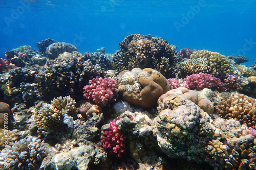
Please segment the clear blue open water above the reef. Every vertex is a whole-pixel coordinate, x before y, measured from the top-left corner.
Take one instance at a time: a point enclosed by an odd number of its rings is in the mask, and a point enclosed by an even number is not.
[[[181,48],[256,58],[256,1],[0,1],[0,57],[52,38],[78,52],[119,50],[130,34],[162,37]]]

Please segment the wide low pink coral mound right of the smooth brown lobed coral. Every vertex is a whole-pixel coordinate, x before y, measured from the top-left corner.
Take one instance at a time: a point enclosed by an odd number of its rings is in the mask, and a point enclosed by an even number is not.
[[[203,89],[203,88],[209,88],[209,89],[217,89],[220,91],[225,91],[226,88],[224,87],[224,83],[221,82],[220,79],[207,74],[200,72],[199,74],[193,74],[190,76],[187,76],[184,81],[184,87],[188,89]]]

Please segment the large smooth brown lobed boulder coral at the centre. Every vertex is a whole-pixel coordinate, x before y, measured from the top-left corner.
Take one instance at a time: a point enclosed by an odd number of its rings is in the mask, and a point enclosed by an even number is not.
[[[160,72],[152,68],[132,69],[118,75],[118,90],[124,100],[131,104],[150,108],[168,90],[168,81]]]

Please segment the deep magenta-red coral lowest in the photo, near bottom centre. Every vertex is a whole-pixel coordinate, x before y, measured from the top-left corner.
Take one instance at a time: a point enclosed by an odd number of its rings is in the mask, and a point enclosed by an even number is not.
[[[120,118],[117,117],[119,120]],[[116,119],[110,123],[110,127],[107,130],[103,130],[102,147],[110,152],[110,154],[121,157],[125,149],[125,139],[123,132],[118,129]]]

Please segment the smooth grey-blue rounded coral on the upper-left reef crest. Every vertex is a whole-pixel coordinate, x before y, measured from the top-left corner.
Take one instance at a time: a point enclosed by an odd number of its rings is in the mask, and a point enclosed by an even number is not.
[[[72,53],[73,51],[77,51],[77,48],[73,44],[69,44],[66,42],[55,42],[46,48],[45,54],[47,58],[55,59],[61,53]]]

